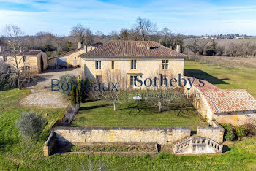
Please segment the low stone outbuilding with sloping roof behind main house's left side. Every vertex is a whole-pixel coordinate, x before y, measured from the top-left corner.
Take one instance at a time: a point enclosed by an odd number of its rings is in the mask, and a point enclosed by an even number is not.
[[[90,50],[93,50],[94,48],[98,47],[99,45],[102,45],[102,43],[96,43],[93,45],[86,45],[82,47],[80,42],[78,42],[78,49],[71,50],[67,53],[61,54],[60,56],[56,56],[54,58],[51,58],[48,60],[48,64],[50,67],[58,67],[58,66],[66,66],[66,67],[76,67],[80,66],[81,59],[80,55],[83,53],[86,53]]]

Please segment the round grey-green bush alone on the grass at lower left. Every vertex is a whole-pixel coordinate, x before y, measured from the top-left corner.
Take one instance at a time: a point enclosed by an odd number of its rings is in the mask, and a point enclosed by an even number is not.
[[[37,115],[34,111],[23,112],[20,119],[16,122],[16,126],[23,137],[35,138],[39,137],[45,122],[45,118],[42,118],[42,115]]]

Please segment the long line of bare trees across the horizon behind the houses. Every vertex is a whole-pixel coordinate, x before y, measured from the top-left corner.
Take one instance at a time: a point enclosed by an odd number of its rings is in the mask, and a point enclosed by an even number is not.
[[[225,39],[199,39],[197,36],[175,34],[170,31],[170,28],[159,30],[156,23],[153,23],[148,18],[140,17],[135,20],[132,28],[110,31],[109,34],[103,34],[102,31],[93,33],[90,28],[78,24],[71,28],[69,36],[66,37],[59,37],[50,32],[40,31],[34,36],[20,34],[20,39],[24,50],[42,50],[48,53],[49,57],[75,50],[78,42],[83,45],[91,45],[97,42],[105,43],[109,40],[152,40],[173,50],[176,50],[176,45],[181,45],[181,53],[186,54],[192,53],[206,56],[256,55],[256,42],[249,41],[250,39],[226,42]],[[8,48],[8,40],[10,41],[10,37],[0,37],[0,46]]]

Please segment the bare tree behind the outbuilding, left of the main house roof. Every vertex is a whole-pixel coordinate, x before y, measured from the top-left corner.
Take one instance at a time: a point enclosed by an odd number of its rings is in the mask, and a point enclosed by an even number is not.
[[[72,27],[70,34],[84,45],[89,45],[92,42],[91,29],[84,27],[82,24]]]

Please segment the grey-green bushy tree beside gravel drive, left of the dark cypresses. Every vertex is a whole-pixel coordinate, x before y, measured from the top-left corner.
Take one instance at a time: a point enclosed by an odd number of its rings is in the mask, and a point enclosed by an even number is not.
[[[67,74],[67,75],[61,75],[61,77],[59,77],[59,86],[62,85],[62,83],[68,83],[68,85],[70,86],[71,83],[77,83],[77,77],[75,77],[75,75],[70,75],[70,74]],[[67,91],[64,91],[64,90],[68,89]],[[72,87],[67,87],[67,84],[64,84],[63,87],[60,89],[61,90],[61,93],[67,97],[67,98],[70,98],[71,96],[71,89]]]

